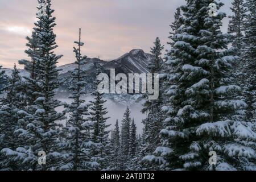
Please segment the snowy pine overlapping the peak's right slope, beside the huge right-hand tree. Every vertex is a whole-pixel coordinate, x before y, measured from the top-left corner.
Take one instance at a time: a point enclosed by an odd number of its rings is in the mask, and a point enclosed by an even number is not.
[[[154,47],[151,48],[151,53],[154,55],[154,59],[151,60],[148,69],[150,73],[162,74],[164,61],[160,57],[162,55],[163,46],[160,43],[159,38],[156,38]],[[144,155],[152,155],[156,150],[156,147],[160,144],[159,133],[163,129],[164,113],[162,107],[164,104],[164,79],[160,79],[159,83],[159,98],[158,100],[147,100],[143,104],[142,113],[147,113],[147,118],[143,120],[144,130],[143,135],[145,139],[145,147],[142,149]]]

